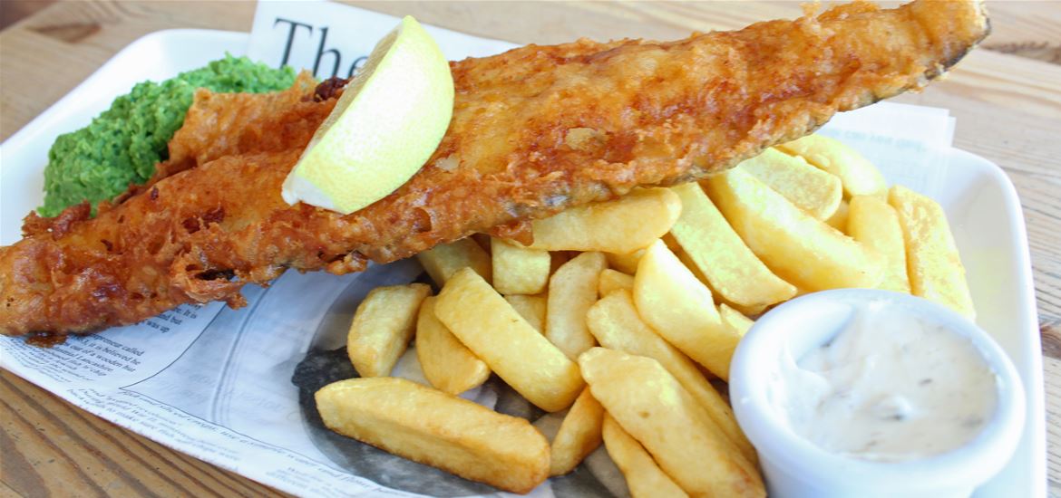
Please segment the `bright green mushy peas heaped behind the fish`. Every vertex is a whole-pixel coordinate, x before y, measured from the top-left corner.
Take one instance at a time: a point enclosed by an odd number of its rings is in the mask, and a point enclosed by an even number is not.
[[[143,183],[155,163],[169,158],[167,144],[185,122],[196,88],[215,92],[268,92],[291,87],[291,68],[273,69],[246,57],[214,60],[162,83],[143,82],[115,99],[88,126],[59,136],[48,152],[42,216],[68,206],[95,203]]]

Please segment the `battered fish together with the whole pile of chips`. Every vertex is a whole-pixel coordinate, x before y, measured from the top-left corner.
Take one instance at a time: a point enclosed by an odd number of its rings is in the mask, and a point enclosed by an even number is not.
[[[435,287],[364,298],[346,346],[360,377],[315,395],[328,428],[514,493],[604,443],[633,496],[764,496],[725,393],[755,316],[865,287],[975,317],[942,208],[812,134],[922,88],[988,30],[976,1],[855,2],[677,41],[450,63],[437,148],[349,214],[281,190],[318,128],[361,105],[343,101],[364,90],[356,77],[199,89],[140,184],[94,217],[91,197],[31,213],[0,248],[0,332],[62,338],[184,303],[238,307],[244,285],[288,269],[416,256]],[[389,376],[411,343],[427,386]],[[566,413],[553,441],[459,397],[491,374]]]

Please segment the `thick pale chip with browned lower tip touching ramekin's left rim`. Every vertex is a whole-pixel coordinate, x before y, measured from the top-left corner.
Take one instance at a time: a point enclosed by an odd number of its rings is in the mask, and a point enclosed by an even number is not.
[[[726,326],[711,290],[662,241],[648,247],[633,275],[638,315],[660,336],[724,380],[741,336]]]

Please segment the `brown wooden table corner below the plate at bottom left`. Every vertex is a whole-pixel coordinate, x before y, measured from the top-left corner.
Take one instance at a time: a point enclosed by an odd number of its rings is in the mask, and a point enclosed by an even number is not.
[[[0,371],[0,479],[23,496],[283,496]]]

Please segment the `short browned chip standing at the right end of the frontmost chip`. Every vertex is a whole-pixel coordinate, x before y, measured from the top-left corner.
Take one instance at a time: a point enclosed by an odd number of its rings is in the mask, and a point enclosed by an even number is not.
[[[601,446],[601,425],[604,407],[593,398],[589,388],[571,405],[560,430],[553,438],[550,476],[562,476],[574,470],[589,453]]]

